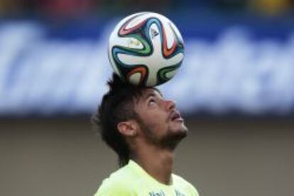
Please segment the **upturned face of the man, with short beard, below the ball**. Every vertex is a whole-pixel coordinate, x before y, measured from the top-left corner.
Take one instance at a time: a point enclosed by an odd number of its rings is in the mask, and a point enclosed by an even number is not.
[[[147,142],[174,149],[187,135],[187,127],[175,103],[165,100],[154,88],[146,88],[135,101],[138,123]]]

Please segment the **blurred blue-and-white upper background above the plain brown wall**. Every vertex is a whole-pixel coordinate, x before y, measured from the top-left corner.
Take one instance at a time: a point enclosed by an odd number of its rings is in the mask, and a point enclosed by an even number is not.
[[[160,89],[184,113],[293,113],[293,1],[1,0],[0,115],[93,113],[111,76],[109,33],[137,11],[183,34],[183,67]]]

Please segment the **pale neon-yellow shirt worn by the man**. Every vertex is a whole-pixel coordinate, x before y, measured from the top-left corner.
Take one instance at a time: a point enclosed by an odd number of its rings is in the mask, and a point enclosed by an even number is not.
[[[165,185],[151,177],[135,161],[103,180],[94,196],[199,196],[193,185],[172,174],[172,183]]]

